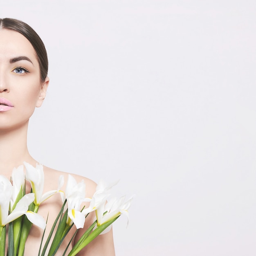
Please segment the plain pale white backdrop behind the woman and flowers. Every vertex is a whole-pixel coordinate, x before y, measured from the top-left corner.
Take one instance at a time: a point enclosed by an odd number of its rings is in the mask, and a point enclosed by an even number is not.
[[[250,0],[1,2],[49,55],[31,155],[136,194],[117,256],[256,254],[255,13]]]

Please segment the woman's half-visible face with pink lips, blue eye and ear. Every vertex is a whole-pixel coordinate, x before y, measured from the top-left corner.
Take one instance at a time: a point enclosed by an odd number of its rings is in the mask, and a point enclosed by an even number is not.
[[[26,124],[45,98],[36,52],[22,34],[0,29],[0,129]]]

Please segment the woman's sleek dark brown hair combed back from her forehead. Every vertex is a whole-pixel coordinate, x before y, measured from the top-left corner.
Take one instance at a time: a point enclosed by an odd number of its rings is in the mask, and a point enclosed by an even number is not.
[[[36,51],[40,67],[40,79],[44,82],[48,73],[48,58],[45,45],[36,31],[27,23],[11,18],[0,19],[0,29],[14,30],[29,40]]]

